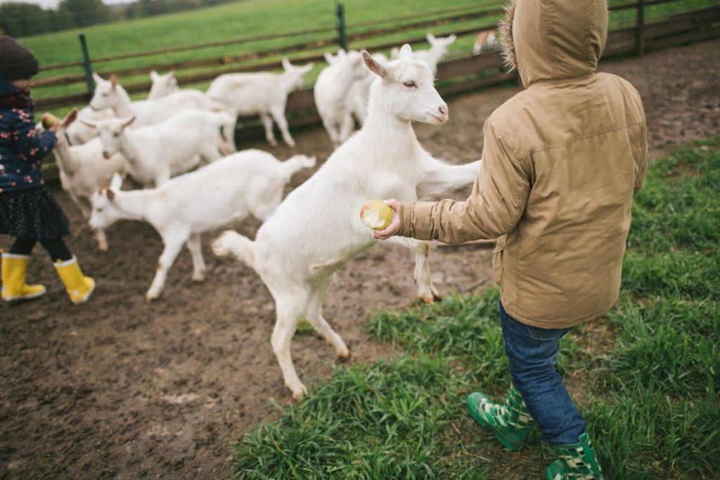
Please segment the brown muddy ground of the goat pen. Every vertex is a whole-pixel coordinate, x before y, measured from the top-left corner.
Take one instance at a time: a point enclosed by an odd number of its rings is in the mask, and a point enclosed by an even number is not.
[[[720,40],[603,63],[642,94],[652,155],[683,140],[720,132]],[[418,125],[433,155],[464,163],[480,157],[482,124],[516,86],[449,100],[450,120]],[[296,132],[294,152],[330,154],[324,130]],[[246,142],[284,160],[292,150]],[[317,168],[317,167],[316,167]],[[312,171],[295,176],[291,186]],[[0,305],[0,478],[228,478],[231,445],[277,402],[292,401],[270,347],[274,304],[258,276],[217,258],[204,235],[204,283],[190,279],[186,251],[166,290],[145,302],[161,240],[149,225],[119,222],[100,253],[78,209],[54,190],[71,219],[68,245],[97,289],[82,306],[70,304],[45,252],[32,254],[28,278],[48,294],[35,302]],[[237,228],[253,236],[259,223]],[[9,248],[9,237],[0,247]],[[433,281],[442,292],[485,289],[492,283],[490,251],[433,245]],[[415,295],[413,258],[377,245],[338,274],[325,317],[348,343],[352,362],[393,354],[366,339],[371,309],[407,307]],[[317,335],[297,335],[292,350],[303,381],[312,384],[339,363]]]

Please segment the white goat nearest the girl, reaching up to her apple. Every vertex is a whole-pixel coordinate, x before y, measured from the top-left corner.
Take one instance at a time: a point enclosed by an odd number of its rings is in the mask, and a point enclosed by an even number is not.
[[[114,172],[125,176],[125,157],[122,153],[114,153],[109,160],[102,156],[102,145],[99,138],[94,138],[82,145],[69,145],[64,133],[76,122],[77,109],[73,109],[60,123],[56,135],[57,141],[53,155],[60,167],[60,184],[68,192],[71,200],[78,206],[85,219],[89,219],[92,195],[97,191],[102,179]],[[107,250],[107,236],[104,230],[93,230],[98,248]]]

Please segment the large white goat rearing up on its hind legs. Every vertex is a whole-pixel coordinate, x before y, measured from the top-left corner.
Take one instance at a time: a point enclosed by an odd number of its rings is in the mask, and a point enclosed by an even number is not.
[[[448,109],[433,86],[427,63],[413,60],[410,45],[402,46],[399,60],[387,64],[367,52],[362,57],[378,76],[362,129],[287,196],[254,242],[228,230],[212,244],[217,255],[235,255],[254,268],[275,299],[271,343],[296,399],[307,393],[290,356],[300,317],[305,316],[338,356],[349,356],[343,340],[323,318],[322,307],[336,271],[377,242],[359,218],[365,201],[439,196],[471,184],[480,171],[480,160],[451,166],[420,146],[411,122],[442,124]],[[405,237],[387,241],[415,252],[418,296],[432,303],[438,291],[428,268],[429,243]]]

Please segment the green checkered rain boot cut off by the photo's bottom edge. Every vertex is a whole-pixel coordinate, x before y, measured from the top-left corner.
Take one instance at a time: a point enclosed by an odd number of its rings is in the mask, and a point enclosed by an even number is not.
[[[546,480],[603,480],[590,437],[583,433],[578,440],[569,445],[550,444],[560,458],[547,467]]]

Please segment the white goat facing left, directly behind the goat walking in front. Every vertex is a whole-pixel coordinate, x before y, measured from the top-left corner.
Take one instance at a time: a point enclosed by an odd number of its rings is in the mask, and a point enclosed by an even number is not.
[[[110,158],[120,151],[127,159],[127,173],[143,186],[159,186],[171,176],[220,158],[220,129],[232,121],[227,112],[187,110],[156,125],[127,128],[135,117],[86,122],[96,128],[102,155]]]

